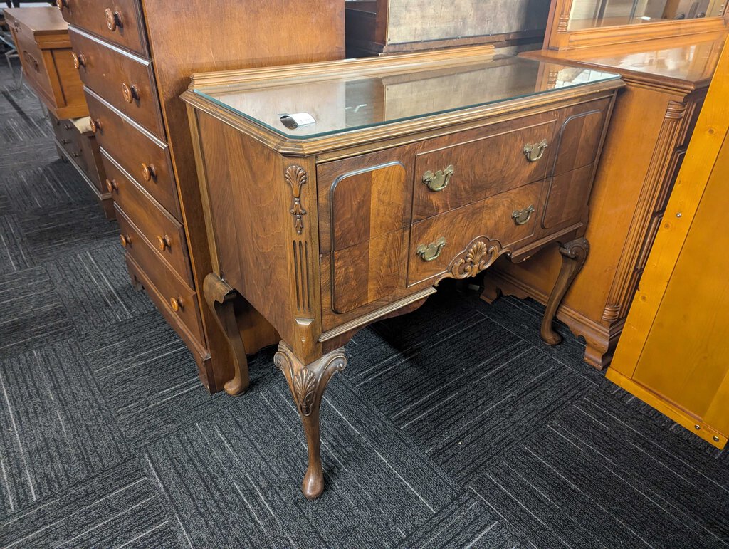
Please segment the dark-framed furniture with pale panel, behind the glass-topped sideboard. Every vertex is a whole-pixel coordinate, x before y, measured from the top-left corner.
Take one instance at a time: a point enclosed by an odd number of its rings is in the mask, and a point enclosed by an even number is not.
[[[347,55],[541,42],[549,5],[532,0],[347,0]]]

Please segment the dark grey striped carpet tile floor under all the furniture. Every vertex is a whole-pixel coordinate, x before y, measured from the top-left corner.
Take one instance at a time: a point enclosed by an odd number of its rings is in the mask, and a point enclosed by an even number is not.
[[[728,452],[455,284],[348,344],[306,502],[273,350],[206,394],[116,235],[0,68],[0,547],[729,546]]]

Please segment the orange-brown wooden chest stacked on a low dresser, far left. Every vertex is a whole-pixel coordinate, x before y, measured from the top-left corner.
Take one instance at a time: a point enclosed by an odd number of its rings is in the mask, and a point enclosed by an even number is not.
[[[53,7],[10,8],[5,20],[28,83],[58,119],[88,114],[71,59],[68,25]]]

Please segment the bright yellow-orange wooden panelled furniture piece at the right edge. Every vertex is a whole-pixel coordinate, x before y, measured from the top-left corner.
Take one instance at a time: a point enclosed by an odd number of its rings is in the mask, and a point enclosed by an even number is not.
[[[729,437],[728,97],[729,45],[607,370],[609,380],[717,448]],[[719,253],[707,260],[711,249]]]

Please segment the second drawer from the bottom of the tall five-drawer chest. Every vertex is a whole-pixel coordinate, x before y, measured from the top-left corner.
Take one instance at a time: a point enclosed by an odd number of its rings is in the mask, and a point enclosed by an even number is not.
[[[157,247],[160,257],[169,263],[180,278],[193,286],[182,224],[158,206],[139,185],[130,181],[108,153],[104,152],[102,155],[106,171],[106,192],[112,193],[114,202],[124,211],[125,216],[133,221],[147,241]]]

